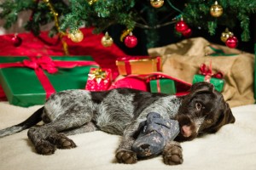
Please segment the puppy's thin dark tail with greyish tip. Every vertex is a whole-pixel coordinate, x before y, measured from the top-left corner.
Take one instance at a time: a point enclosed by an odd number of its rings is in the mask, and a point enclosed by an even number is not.
[[[0,138],[3,138],[4,136],[9,136],[11,134],[19,133],[26,128],[36,125],[38,122],[42,121],[43,111],[44,107],[41,107],[40,109],[38,109],[38,111],[35,111],[32,116],[28,117],[26,121],[20,122],[20,124],[17,124],[15,126],[7,127],[3,130],[0,130]]]

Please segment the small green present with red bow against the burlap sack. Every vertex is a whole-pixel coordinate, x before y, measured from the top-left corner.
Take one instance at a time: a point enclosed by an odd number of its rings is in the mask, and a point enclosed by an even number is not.
[[[211,82],[216,90],[218,92],[221,92],[224,88],[224,74],[221,71],[218,71],[217,73],[212,73],[212,63],[210,63],[210,66],[207,67],[207,65],[202,64],[200,68],[201,74],[196,74],[193,77],[193,84],[195,82]]]

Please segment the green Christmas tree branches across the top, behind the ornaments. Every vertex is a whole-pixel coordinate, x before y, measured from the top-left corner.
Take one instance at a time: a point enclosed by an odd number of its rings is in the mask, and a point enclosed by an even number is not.
[[[256,1],[251,0],[218,0],[218,4],[224,8],[224,13],[218,18],[212,17],[209,13],[215,0],[189,0],[187,3],[165,0],[161,8],[153,8],[149,0],[96,0],[91,4],[88,0],[49,1],[58,13],[61,31],[75,31],[80,26],[93,26],[94,33],[100,33],[113,25],[121,25],[130,30],[136,27],[145,31],[157,30],[161,26],[174,24],[172,15],[183,14],[183,20],[189,26],[206,29],[210,35],[215,34],[218,26],[226,26],[230,29],[241,26],[241,40],[248,41],[249,18],[251,14],[256,13]],[[27,21],[25,28],[36,35],[40,33],[40,26],[55,22],[49,8],[42,0],[5,0],[0,4],[0,10],[0,18],[5,20],[6,29],[17,21],[20,12],[26,10],[32,11],[33,15],[32,19]],[[154,14],[148,14],[148,11]],[[57,32],[55,26],[50,32]],[[151,38],[157,34],[156,31],[147,32],[148,37]]]

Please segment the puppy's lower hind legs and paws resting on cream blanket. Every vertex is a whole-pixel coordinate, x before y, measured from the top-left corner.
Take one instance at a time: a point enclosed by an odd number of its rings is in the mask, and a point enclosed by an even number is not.
[[[68,139],[64,133],[60,133],[67,129],[81,127],[87,122],[90,122],[92,114],[88,110],[71,111],[63,114],[55,121],[49,122],[42,127],[32,127],[28,130],[28,137],[34,144],[35,149],[39,154],[51,155],[55,149],[70,149],[76,147],[72,139]]]

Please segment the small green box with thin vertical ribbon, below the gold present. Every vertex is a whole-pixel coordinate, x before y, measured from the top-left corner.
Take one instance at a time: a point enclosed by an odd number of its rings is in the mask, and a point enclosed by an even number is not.
[[[172,79],[156,79],[150,80],[150,91],[152,93],[162,93],[162,94],[176,94],[177,89],[175,82]]]

